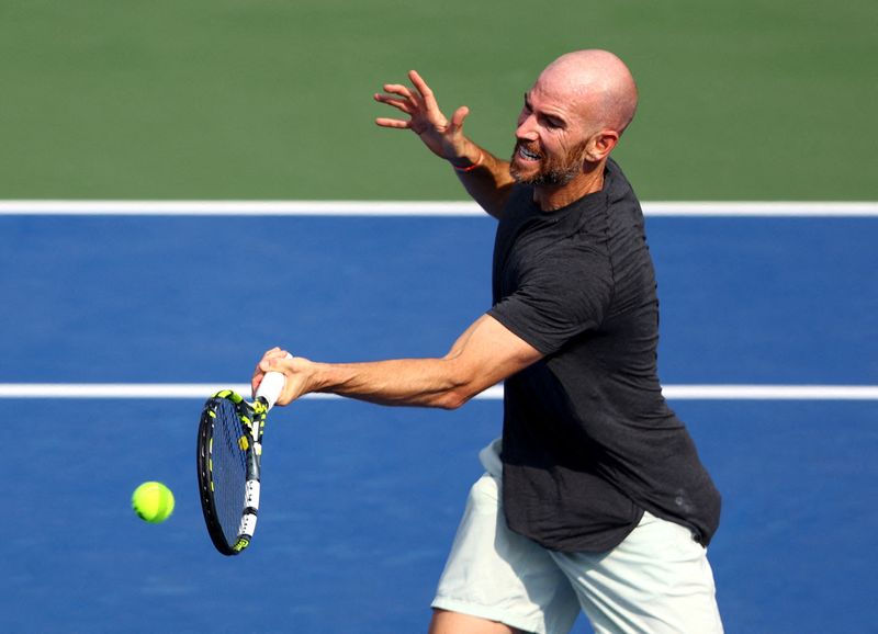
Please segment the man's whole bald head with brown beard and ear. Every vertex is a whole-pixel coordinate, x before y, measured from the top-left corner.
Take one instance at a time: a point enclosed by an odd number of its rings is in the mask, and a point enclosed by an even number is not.
[[[525,94],[513,177],[563,186],[604,163],[634,117],[638,90],[621,59],[577,50],[550,64]]]

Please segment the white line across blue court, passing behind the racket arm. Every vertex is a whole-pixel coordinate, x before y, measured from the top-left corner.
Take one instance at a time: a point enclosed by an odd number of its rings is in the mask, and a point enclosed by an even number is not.
[[[249,395],[247,384],[218,383],[0,383],[0,398],[198,398],[219,389]],[[878,400],[878,385],[667,385],[671,400]],[[312,394],[308,399],[339,398]],[[503,387],[492,387],[477,399],[498,400]]]

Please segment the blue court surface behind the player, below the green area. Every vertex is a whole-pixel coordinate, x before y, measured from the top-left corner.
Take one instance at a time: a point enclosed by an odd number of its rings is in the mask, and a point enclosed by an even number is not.
[[[274,344],[441,355],[489,306],[493,231],[477,217],[0,216],[0,384],[240,384]],[[649,217],[648,233],[669,390],[878,385],[878,218]],[[2,632],[426,631],[477,450],[500,427],[494,398],[278,410],[256,540],[225,558],[199,508],[198,398],[0,405]],[[878,631],[876,400],[672,406],[723,494],[710,559],[727,632]],[[165,524],[130,509],[147,479],[177,495]]]

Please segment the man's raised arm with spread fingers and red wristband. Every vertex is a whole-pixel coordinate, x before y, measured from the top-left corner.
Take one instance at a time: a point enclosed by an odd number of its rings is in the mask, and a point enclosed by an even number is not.
[[[463,134],[463,121],[470,109],[461,106],[447,118],[436,102],[432,90],[414,70],[408,78],[414,90],[399,83],[384,84],[384,93],[375,101],[408,115],[407,120],[379,117],[382,127],[410,129],[436,156],[453,167],[466,192],[492,216],[499,218],[515,181],[509,163],[479,147]]]

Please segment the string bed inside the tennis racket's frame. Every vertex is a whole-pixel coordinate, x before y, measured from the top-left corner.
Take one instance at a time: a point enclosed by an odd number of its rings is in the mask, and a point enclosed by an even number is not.
[[[246,506],[247,453],[245,430],[237,408],[223,400],[216,409],[212,451],[213,496],[217,520],[226,542],[235,544]]]

